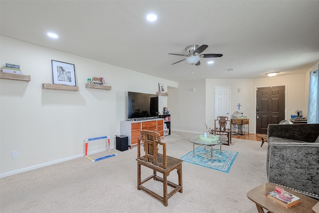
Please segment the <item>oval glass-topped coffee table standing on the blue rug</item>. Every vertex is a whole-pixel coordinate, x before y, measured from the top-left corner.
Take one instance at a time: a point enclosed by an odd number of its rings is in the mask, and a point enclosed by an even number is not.
[[[210,147],[210,159],[213,162],[213,146],[220,145],[220,153],[221,153],[221,145],[227,141],[227,138],[222,135],[211,135],[208,134],[207,138],[204,135],[200,135],[199,138],[196,139],[188,139],[189,142],[193,143],[193,157],[195,157],[195,145]],[[209,152],[209,150],[207,150]]]

